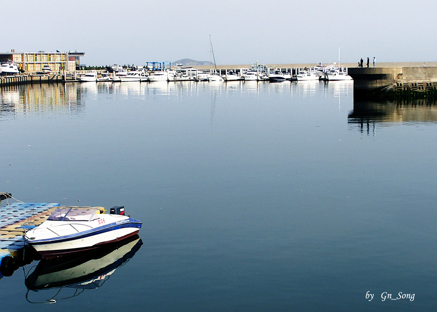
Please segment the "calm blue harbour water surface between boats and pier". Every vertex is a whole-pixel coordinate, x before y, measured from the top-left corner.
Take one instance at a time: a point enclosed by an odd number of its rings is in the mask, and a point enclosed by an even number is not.
[[[0,91],[0,133],[0,191],[143,221],[104,283],[28,291],[35,261],[0,280],[3,307],[435,310],[436,103],[354,101],[351,82],[34,85]]]

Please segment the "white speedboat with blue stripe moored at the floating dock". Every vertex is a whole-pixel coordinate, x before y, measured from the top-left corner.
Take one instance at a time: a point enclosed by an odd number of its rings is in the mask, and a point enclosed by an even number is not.
[[[57,207],[46,221],[27,231],[24,240],[51,259],[118,242],[141,228],[141,221],[124,215],[124,207],[104,212],[103,207]]]

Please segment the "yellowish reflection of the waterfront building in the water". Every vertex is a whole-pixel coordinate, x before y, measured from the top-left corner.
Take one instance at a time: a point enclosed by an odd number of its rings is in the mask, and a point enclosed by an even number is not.
[[[77,83],[4,87],[0,89],[0,121],[48,111],[52,115],[78,115],[83,104]]]

